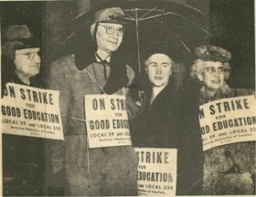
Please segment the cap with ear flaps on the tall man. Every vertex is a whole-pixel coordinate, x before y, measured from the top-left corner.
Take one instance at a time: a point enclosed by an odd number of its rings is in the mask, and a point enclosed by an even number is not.
[[[118,7],[101,9],[96,12],[93,24],[90,26],[90,35],[94,37],[97,23],[116,23],[126,25],[125,13]]]

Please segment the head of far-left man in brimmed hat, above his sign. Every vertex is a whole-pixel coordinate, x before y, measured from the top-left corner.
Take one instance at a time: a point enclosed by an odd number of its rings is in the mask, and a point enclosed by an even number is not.
[[[4,30],[2,54],[3,90],[7,82],[42,86],[36,77],[41,67],[39,43],[26,25],[9,26]]]

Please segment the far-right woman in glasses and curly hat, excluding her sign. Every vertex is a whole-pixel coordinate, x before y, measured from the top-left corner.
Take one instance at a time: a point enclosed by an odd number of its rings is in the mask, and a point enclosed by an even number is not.
[[[195,55],[198,59],[191,66],[190,76],[201,83],[200,105],[254,94],[252,90],[232,89],[226,84],[224,69],[231,59],[228,50],[207,45],[196,48]],[[205,194],[253,194],[253,176],[255,142],[237,142],[204,152]]]

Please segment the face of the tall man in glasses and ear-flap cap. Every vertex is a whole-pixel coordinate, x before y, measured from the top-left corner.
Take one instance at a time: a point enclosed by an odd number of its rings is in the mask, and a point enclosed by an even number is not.
[[[99,23],[96,32],[97,49],[111,54],[119,48],[123,40],[123,25]]]

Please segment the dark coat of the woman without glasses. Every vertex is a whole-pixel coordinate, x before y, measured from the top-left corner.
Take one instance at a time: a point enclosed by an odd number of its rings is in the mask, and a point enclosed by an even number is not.
[[[133,126],[133,146],[177,148],[177,194],[201,194],[202,147],[196,106],[172,79],[151,105],[150,95]]]

